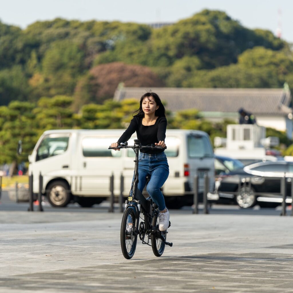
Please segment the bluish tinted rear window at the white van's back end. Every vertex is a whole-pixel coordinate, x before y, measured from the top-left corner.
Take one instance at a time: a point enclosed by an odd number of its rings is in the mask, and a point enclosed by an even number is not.
[[[213,157],[213,150],[207,137],[202,135],[189,135],[187,137],[188,156],[190,158]]]

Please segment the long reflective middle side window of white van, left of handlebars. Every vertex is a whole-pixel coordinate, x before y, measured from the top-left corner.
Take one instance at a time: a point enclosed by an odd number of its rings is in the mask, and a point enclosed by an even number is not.
[[[84,137],[81,142],[84,157],[121,157],[122,151],[108,149],[117,137]]]

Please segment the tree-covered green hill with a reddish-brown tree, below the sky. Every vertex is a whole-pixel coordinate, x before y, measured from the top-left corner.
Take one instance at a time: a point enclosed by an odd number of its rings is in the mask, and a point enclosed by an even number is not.
[[[289,44],[250,30],[222,11],[203,10],[173,25],[35,22],[0,23],[0,105],[12,100],[73,96],[85,103],[125,86],[282,87],[293,85]]]

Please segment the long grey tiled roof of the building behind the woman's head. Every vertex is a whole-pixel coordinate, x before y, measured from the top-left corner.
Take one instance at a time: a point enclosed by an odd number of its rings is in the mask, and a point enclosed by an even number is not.
[[[238,112],[244,108],[256,115],[292,113],[291,93],[283,88],[152,88],[170,111],[196,108],[202,112]],[[147,88],[120,88],[114,100],[139,99]]]

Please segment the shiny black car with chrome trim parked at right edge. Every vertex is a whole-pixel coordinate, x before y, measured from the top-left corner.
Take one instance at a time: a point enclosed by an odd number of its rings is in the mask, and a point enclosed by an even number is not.
[[[235,201],[242,208],[253,207],[256,203],[260,206],[276,207],[282,203],[282,177],[286,177],[286,202],[290,203],[293,162],[286,161],[255,163],[220,175],[216,181],[216,193],[220,199]],[[244,183],[243,178],[250,180],[251,186]]]

